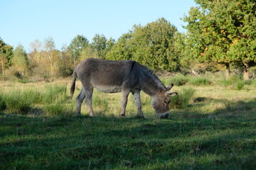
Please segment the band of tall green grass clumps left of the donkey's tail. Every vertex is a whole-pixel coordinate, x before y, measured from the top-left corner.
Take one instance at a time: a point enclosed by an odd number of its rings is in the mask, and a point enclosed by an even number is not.
[[[28,114],[34,105],[43,105],[47,115],[58,115],[70,109],[65,107],[68,101],[66,84],[46,86],[45,90],[12,90],[1,92],[0,111],[9,110],[13,113]]]

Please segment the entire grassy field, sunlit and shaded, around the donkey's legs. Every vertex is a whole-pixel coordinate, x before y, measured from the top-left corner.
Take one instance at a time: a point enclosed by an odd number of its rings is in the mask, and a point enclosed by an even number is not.
[[[256,82],[182,75],[164,79],[178,91],[169,119],[157,118],[142,94],[146,119],[129,96],[95,90],[75,116],[71,79],[0,82],[0,169],[255,169]],[[80,91],[80,83],[75,96]]]

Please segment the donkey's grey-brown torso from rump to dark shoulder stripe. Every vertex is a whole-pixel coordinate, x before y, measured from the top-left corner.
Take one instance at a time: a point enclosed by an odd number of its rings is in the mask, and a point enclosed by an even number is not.
[[[83,86],[93,86],[107,93],[120,92],[124,81],[129,79],[134,64],[132,60],[111,61],[89,58],[75,67],[74,76],[80,79]]]

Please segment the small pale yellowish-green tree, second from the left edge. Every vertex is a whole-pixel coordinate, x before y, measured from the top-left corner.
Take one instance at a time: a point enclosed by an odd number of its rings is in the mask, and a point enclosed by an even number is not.
[[[23,75],[28,72],[28,55],[23,45],[18,45],[14,50],[14,57],[11,60],[11,67],[14,68],[16,74]]]

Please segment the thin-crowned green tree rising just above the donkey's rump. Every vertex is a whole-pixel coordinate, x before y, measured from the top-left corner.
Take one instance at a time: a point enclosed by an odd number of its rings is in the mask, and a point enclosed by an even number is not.
[[[68,45],[67,50],[73,58],[73,63],[79,59],[82,49],[88,47],[89,41],[83,35],[77,35]]]

